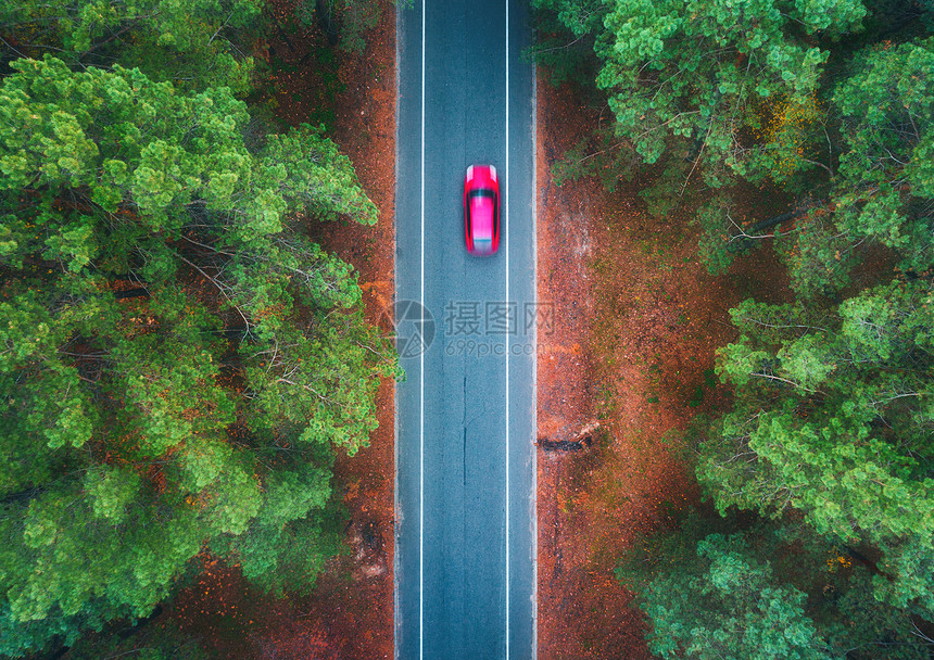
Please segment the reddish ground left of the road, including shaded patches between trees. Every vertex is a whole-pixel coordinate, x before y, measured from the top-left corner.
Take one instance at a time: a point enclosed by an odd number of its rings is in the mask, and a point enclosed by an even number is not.
[[[294,17],[294,0],[272,0],[278,22],[268,45],[268,90],[276,115],[288,124],[329,124],[329,136],[354,163],[379,210],[374,227],[308,223],[313,239],[359,274],[366,316],[387,318],[393,294],[395,189],[395,13],[380,0],[382,17],[367,33],[364,55],[333,54],[321,30]],[[276,35],[278,34],[278,37]],[[335,77],[336,73],[336,77]],[[387,332],[391,328],[383,328]],[[355,457],[338,457],[335,485],[350,520],[350,551],[331,560],[305,598],[252,589],[236,567],[206,560],[198,583],[166,615],[198,635],[217,657],[232,659],[353,658],[393,655],[394,383],[377,394],[379,428]]]

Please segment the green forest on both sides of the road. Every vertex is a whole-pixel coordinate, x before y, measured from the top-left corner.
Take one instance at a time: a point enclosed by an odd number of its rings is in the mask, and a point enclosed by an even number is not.
[[[374,4],[330,3],[336,48]],[[731,310],[730,403],[681,432],[703,506],[618,557],[648,649],[930,658],[934,3],[531,4],[530,56],[608,117],[555,179],[651,180],[711,272],[774,251],[790,282]],[[205,557],[306,594],[343,551],[335,460],[401,373],[308,236],[377,210],[264,94],[281,29],[264,0],[0,3],[0,656],[206,658],[146,627]]]

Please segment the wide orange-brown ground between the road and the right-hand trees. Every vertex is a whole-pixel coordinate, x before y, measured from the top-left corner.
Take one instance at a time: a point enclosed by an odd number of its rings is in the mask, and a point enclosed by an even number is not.
[[[698,502],[677,432],[725,401],[712,367],[735,338],[728,309],[786,281],[770,251],[709,276],[699,228],[647,214],[646,181],[556,186],[552,164],[598,111],[541,76],[538,89],[538,293],[556,307],[538,364],[539,658],[648,658],[646,622],[614,569],[639,535]],[[544,448],[594,423],[590,446]]]

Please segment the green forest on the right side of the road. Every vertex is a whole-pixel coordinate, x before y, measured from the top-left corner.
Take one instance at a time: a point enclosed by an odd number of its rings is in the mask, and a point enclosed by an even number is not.
[[[649,180],[710,272],[768,250],[790,282],[730,310],[729,404],[681,432],[703,506],[617,558],[649,651],[930,658],[934,3],[532,4],[530,55],[603,118],[555,179]]]

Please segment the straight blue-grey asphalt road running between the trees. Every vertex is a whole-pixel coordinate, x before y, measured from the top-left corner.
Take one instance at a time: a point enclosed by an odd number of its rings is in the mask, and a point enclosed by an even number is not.
[[[508,4],[508,7],[507,7]],[[535,653],[534,88],[525,2],[399,12],[395,648]],[[464,174],[501,180],[498,253],[468,255]],[[419,312],[424,305],[425,314]],[[424,350],[422,350],[424,348]]]

